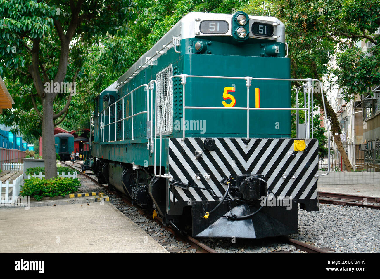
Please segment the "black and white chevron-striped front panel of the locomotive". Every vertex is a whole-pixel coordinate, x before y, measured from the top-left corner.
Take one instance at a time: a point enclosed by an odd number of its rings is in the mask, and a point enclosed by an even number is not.
[[[318,171],[316,139],[309,140],[306,151],[294,151],[294,139],[251,139],[245,147],[244,139],[220,138],[215,139],[213,151],[204,150],[204,139],[186,138],[184,149],[180,140],[170,139],[169,142],[169,175],[174,180],[212,189],[222,196],[226,186],[219,181],[223,177],[262,174],[268,182],[268,189],[276,196],[317,198],[317,178],[314,177]],[[203,158],[195,159],[195,151],[203,151]],[[290,153],[295,156],[290,156]],[[206,178],[205,173],[210,178]],[[284,173],[286,178],[283,178]],[[170,194],[172,197],[173,193]],[[183,201],[219,200],[207,191],[193,188],[175,187],[174,197]]]

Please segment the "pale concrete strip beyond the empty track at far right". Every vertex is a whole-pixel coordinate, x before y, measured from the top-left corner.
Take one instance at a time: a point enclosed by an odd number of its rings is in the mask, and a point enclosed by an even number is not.
[[[318,191],[367,197],[380,197],[380,185],[318,184]]]

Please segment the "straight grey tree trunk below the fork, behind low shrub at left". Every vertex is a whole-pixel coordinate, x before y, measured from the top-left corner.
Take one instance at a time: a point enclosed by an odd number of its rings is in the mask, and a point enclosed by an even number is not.
[[[43,101],[43,154],[45,159],[45,178],[57,177],[57,156],[55,155],[54,142],[54,111],[53,101],[46,96]]]

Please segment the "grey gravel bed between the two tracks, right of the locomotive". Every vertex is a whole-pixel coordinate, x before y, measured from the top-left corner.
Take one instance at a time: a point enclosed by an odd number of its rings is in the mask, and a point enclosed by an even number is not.
[[[298,210],[299,241],[335,252],[380,252],[380,210],[319,204],[319,211]]]

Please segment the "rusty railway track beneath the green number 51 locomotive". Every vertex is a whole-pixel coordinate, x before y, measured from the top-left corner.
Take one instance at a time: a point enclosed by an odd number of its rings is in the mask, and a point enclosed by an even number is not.
[[[168,226],[165,226],[162,224],[162,219],[159,218],[158,216],[156,216],[155,218],[152,218],[151,216],[148,216],[147,213],[142,209],[140,208],[139,206],[137,206],[136,204],[135,205],[132,205],[132,202],[131,202],[131,199],[129,197],[127,197],[126,195],[123,195],[123,194],[120,194],[119,192],[116,192],[116,191],[112,191],[108,188],[108,186],[106,184],[102,184],[102,183],[99,183],[98,180],[90,175],[88,175],[87,173],[82,173],[81,172],[81,166],[78,164],[78,163],[75,163],[74,165],[67,163],[67,162],[63,162],[63,161],[60,161],[61,164],[63,165],[66,165],[68,167],[71,167],[77,171],[79,171],[81,173],[81,175],[87,177],[88,179],[92,180],[95,184],[97,184],[98,186],[101,186],[103,188],[106,188],[107,191],[111,194],[114,194],[116,195],[117,197],[119,197],[123,203],[117,203],[117,204],[114,204],[114,206],[116,208],[119,209],[119,211],[127,211],[128,209],[126,209],[127,206],[133,206],[137,209],[138,213],[140,216],[144,216],[146,217],[147,219],[149,219],[150,221],[154,221],[156,222],[158,225],[160,225],[162,228],[164,228],[165,230],[171,232],[173,235],[174,235],[174,238],[178,241],[182,241],[184,243],[190,243],[192,249],[196,249],[196,252],[197,253],[217,253],[217,251],[215,251],[214,249],[208,247],[207,245],[201,243],[200,241],[196,240],[195,238],[193,238],[192,236],[189,236],[189,235],[186,235],[182,232],[180,232],[179,230],[177,230],[176,228],[171,228],[171,227],[168,227]],[[78,166],[76,166],[78,165]],[[131,219],[131,217],[133,218],[133,216],[136,216],[136,214],[134,213],[130,213],[130,215],[128,214],[125,214],[128,218]],[[133,221],[133,220],[132,220]],[[136,222],[137,224],[139,222]],[[147,231],[148,233],[152,233],[150,232],[149,230]],[[165,240],[165,236],[152,236],[152,238],[154,238],[156,241],[157,240]],[[307,244],[307,243],[304,243],[302,241],[298,241],[298,240],[294,240],[288,236],[283,236],[283,237],[280,237],[278,238],[279,241],[281,242],[284,242],[284,243],[288,243],[290,245],[293,245],[295,246],[297,249],[300,249],[302,251],[306,251],[308,253],[328,253],[328,251],[324,250],[324,249],[321,249],[321,248],[318,248],[318,247],[315,247],[313,245],[310,245],[310,244]],[[157,241],[158,243],[160,243],[161,245],[165,245],[165,244],[168,244],[168,242],[159,242]],[[189,249],[189,248],[187,248]],[[184,249],[184,248],[181,248],[181,249],[167,249],[169,252],[171,253],[174,253],[174,252],[183,252],[184,250],[187,250],[187,249]],[[331,249],[330,249],[331,250]],[[332,250],[333,251],[333,250]]]

